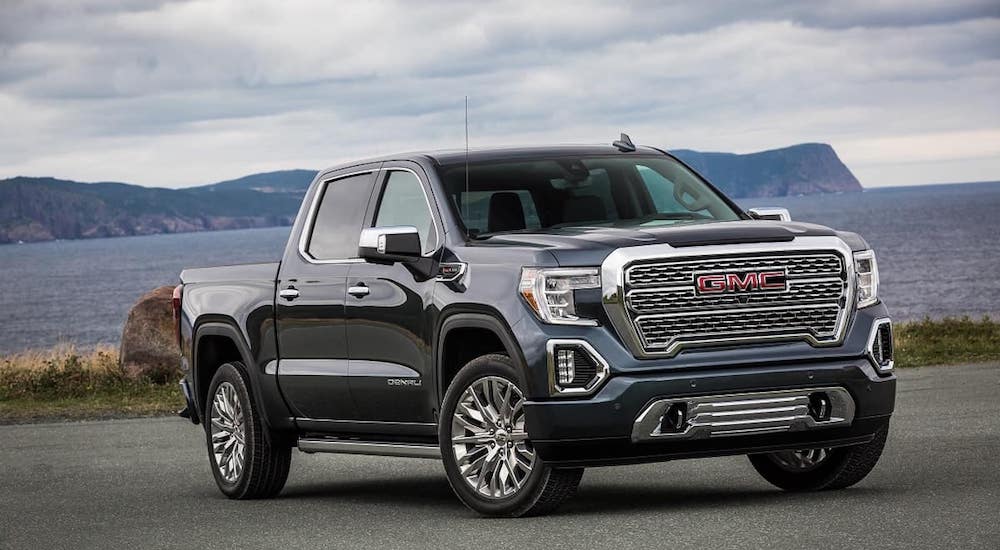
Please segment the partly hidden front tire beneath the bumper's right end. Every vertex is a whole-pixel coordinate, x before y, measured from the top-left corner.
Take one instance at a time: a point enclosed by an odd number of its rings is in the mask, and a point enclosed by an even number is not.
[[[748,458],[757,473],[785,491],[844,489],[864,479],[875,468],[888,433],[889,428],[885,427],[868,443],[851,447],[765,453]]]

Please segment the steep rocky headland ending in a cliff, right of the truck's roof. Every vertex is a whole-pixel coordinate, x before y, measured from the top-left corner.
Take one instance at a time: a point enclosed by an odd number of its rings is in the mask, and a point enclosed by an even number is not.
[[[731,197],[783,197],[861,191],[833,147],[803,143],[748,155],[671,151]]]

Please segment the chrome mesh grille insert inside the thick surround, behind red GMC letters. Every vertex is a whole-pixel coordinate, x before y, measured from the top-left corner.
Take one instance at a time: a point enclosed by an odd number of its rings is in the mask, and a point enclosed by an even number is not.
[[[686,344],[800,338],[837,340],[850,288],[833,250],[674,257],[637,261],[622,274],[625,317],[646,353]],[[701,275],[779,271],[785,290],[701,294]]]

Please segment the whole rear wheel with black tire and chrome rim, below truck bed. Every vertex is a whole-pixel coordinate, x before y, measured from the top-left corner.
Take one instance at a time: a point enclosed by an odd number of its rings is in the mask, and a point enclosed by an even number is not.
[[[291,445],[283,444],[277,434],[265,435],[267,428],[250,397],[242,363],[219,367],[209,384],[205,413],[208,460],[219,490],[238,500],[270,498],[281,492],[292,461]],[[218,440],[218,448],[213,438]],[[230,456],[232,460],[223,460]]]

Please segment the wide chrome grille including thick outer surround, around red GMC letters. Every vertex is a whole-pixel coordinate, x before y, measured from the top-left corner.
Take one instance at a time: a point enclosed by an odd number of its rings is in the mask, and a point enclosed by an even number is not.
[[[699,275],[784,270],[785,291],[701,294]],[[853,253],[837,237],[620,248],[601,266],[604,309],[638,358],[692,347],[805,341],[839,345],[854,312]]]

